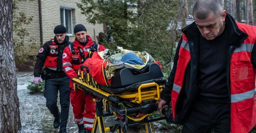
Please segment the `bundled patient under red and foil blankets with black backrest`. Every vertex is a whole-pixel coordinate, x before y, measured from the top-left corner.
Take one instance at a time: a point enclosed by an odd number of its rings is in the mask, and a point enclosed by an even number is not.
[[[91,77],[100,84],[101,89],[117,94],[137,89],[142,83],[163,85],[166,82],[162,66],[148,53],[123,52],[125,50],[121,48],[121,53],[109,56],[106,55],[107,51],[94,52],[92,58],[82,65],[89,69]]]

